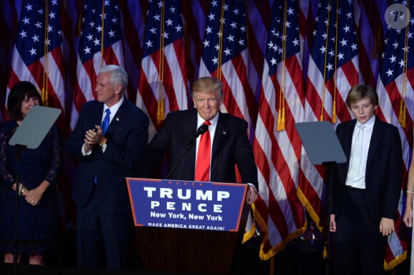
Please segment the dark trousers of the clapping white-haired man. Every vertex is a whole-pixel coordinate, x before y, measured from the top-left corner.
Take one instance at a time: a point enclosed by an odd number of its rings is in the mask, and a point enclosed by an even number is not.
[[[78,207],[78,266],[88,269],[131,269],[131,213],[105,214],[97,209],[93,199],[88,206]]]

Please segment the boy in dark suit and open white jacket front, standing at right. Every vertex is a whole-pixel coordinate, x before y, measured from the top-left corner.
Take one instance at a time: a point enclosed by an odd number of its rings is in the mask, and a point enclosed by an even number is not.
[[[335,274],[384,274],[387,237],[398,217],[400,135],[375,116],[378,95],[369,85],[351,88],[346,103],[355,119],[336,128],[348,162],[333,177]]]

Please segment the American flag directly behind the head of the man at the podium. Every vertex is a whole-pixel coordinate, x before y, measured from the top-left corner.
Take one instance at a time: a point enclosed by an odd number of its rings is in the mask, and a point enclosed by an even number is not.
[[[211,1],[198,75],[221,80],[224,92],[222,110],[245,119],[253,137],[258,111],[258,74],[251,66],[247,47],[244,5],[241,0]]]

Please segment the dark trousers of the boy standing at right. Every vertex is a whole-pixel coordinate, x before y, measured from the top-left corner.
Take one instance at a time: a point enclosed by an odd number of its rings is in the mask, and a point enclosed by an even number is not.
[[[346,190],[345,205],[336,219],[334,274],[381,275],[387,239],[373,223],[366,206],[365,191]],[[339,212],[339,211],[338,211]]]

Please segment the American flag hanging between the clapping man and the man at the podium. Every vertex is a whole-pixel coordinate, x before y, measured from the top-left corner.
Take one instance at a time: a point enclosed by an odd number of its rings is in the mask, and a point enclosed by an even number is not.
[[[136,105],[151,118],[150,138],[166,114],[188,108],[184,28],[179,1],[149,1]]]

